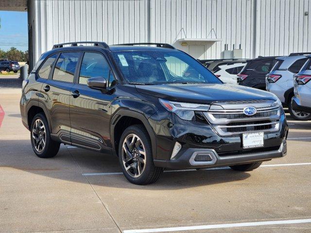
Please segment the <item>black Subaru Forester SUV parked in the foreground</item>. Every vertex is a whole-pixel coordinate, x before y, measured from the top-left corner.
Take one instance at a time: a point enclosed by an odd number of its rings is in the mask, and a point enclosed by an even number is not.
[[[286,154],[275,95],[224,84],[171,45],[134,45],[74,42],[42,54],[20,100],[38,157],[61,143],[109,152],[130,182],[148,184],[164,168],[250,171]]]

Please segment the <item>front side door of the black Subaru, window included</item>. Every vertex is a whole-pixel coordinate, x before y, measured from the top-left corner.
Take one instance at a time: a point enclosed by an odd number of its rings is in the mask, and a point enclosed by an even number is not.
[[[71,88],[70,121],[72,145],[93,150],[111,148],[110,116],[113,90],[104,93],[86,85],[87,79],[103,77],[108,87],[114,75],[102,53],[85,52],[75,84]]]

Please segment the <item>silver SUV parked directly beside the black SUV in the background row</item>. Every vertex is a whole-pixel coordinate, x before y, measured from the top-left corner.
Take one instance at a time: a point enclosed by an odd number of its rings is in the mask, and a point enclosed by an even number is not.
[[[311,114],[293,110],[291,100],[294,97],[294,75],[307,61],[306,54],[291,53],[289,56],[276,58],[277,62],[266,76],[266,89],[274,93],[296,120],[309,120]]]

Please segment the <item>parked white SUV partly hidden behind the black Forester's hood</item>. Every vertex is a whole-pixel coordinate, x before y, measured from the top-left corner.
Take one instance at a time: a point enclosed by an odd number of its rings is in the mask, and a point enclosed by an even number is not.
[[[237,74],[241,72],[245,65],[246,62],[228,63],[226,65],[219,66],[220,70],[214,72],[214,74],[224,83],[238,84]]]

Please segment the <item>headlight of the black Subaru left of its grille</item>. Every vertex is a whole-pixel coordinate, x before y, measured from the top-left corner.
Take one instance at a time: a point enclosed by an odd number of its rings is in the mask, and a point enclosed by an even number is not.
[[[163,99],[159,99],[159,102],[166,110],[175,113],[183,120],[195,120],[194,111],[207,111],[210,107],[209,104],[174,102]]]

